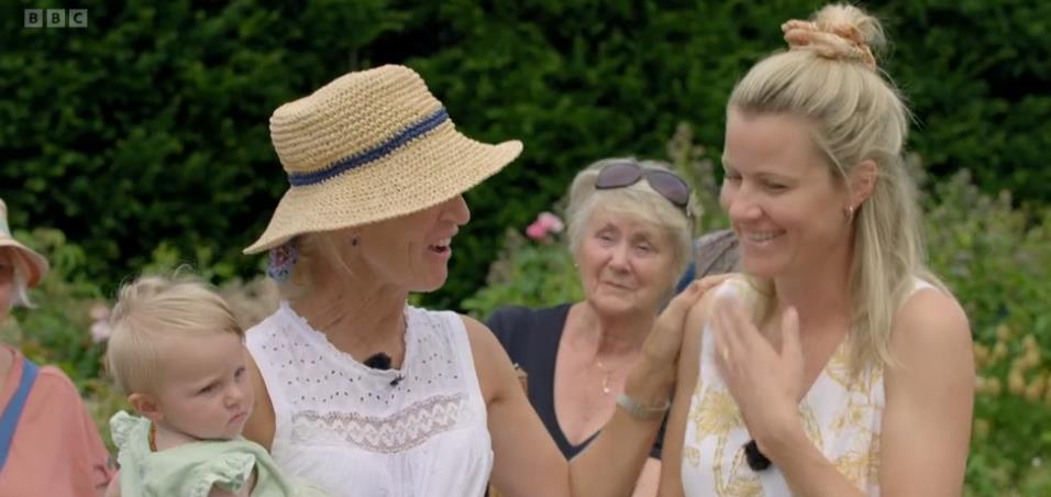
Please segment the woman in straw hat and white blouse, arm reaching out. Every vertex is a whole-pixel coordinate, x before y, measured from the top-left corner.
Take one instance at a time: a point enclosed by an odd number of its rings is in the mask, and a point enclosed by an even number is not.
[[[407,305],[444,284],[462,194],[520,142],[460,134],[411,69],[351,73],[270,118],[290,183],[246,253],[269,251],[278,310],[247,332],[245,435],[333,495],[628,495],[668,406],[697,285],[656,321],[621,409],[567,464],[482,323]]]

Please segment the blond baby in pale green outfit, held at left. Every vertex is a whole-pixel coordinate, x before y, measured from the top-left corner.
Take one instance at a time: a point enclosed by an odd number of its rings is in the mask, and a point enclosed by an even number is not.
[[[188,278],[124,286],[106,366],[141,417],[110,419],[121,471],[108,496],[320,496],[280,476],[241,438],[252,413],[244,331],[226,302]]]

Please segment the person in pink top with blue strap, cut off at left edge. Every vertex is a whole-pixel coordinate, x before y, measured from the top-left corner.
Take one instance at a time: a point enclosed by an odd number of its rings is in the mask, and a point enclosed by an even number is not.
[[[0,324],[47,273],[47,259],[11,236],[0,200]],[[0,494],[102,495],[109,453],[66,375],[0,343]]]

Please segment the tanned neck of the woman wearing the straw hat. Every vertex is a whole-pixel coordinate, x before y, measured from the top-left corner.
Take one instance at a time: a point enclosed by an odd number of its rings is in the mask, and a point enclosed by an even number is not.
[[[289,302],[292,310],[355,361],[383,352],[392,367],[400,367],[408,291],[334,273],[318,275],[307,295]]]

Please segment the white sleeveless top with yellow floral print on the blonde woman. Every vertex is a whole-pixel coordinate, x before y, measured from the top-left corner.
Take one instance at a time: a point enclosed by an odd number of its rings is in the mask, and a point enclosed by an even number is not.
[[[917,280],[916,290],[921,288],[933,286]],[[749,467],[744,444],[751,437],[716,367],[713,350],[713,333],[706,325],[683,443],[686,496],[790,496],[776,466],[761,472]],[[882,365],[851,376],[849,336],[799,402],[807,437],[841,474],[871,496],[879,495],[879,431],[885,405]]]

